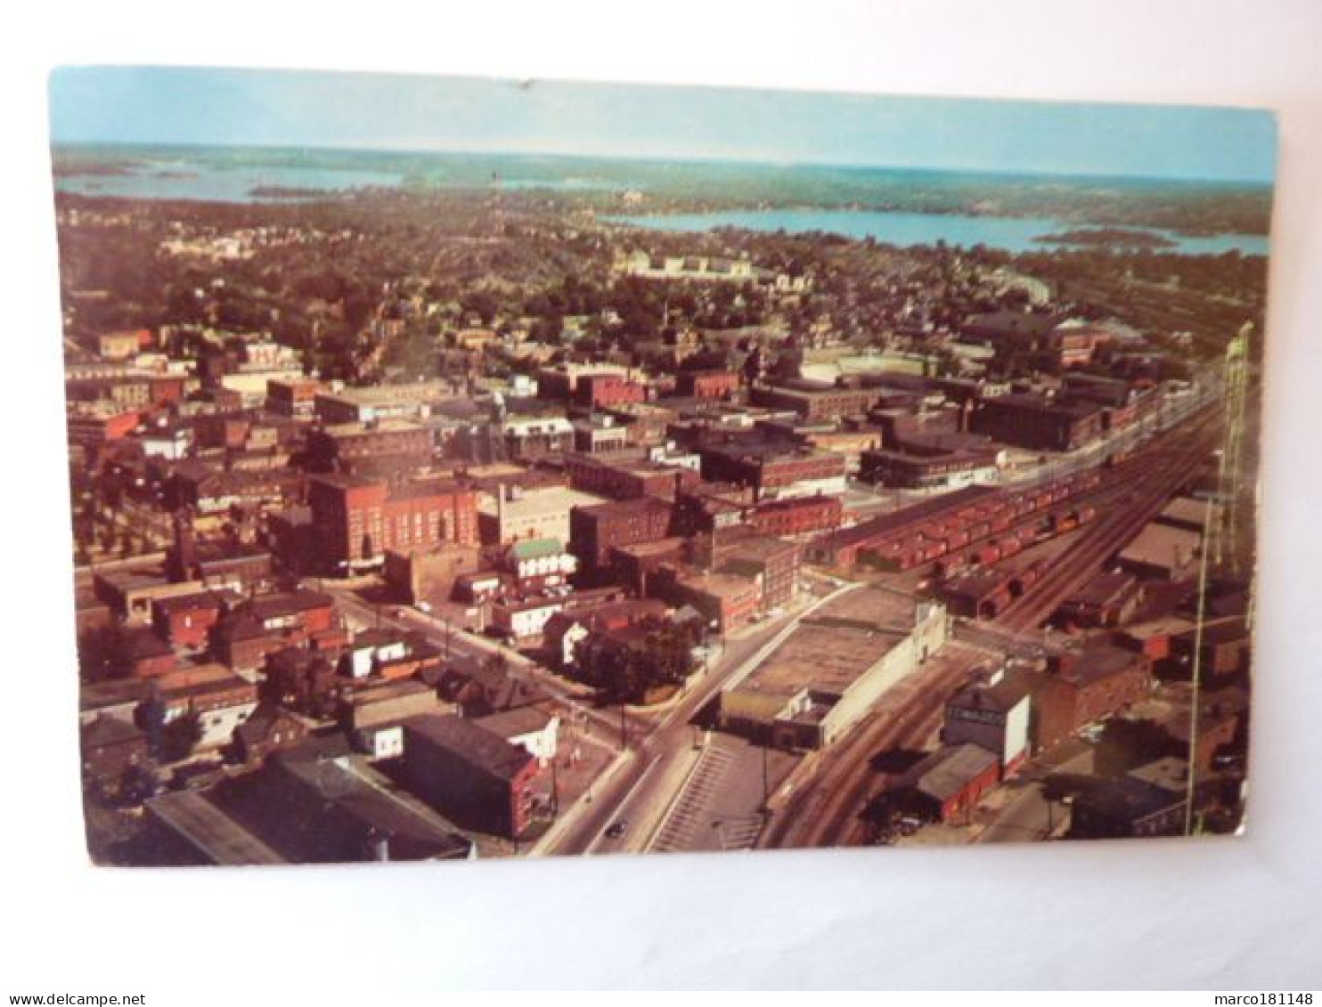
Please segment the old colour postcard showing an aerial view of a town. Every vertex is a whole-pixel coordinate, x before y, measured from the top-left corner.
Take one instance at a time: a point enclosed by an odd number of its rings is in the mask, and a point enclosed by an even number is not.
[[[49,93],[95,863],[1252,827],[1269,112]]]

